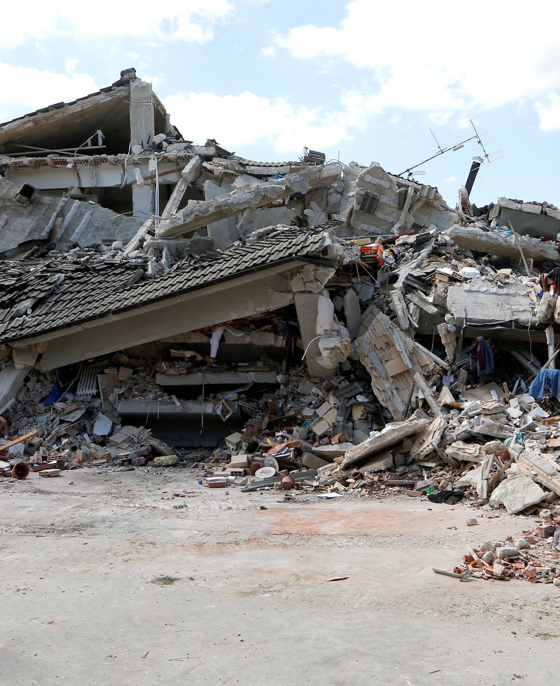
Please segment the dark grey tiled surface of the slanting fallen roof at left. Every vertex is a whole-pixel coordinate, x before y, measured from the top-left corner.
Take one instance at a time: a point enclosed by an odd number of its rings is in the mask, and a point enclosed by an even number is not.
[[[14,262],[0,263],[0,342],[40,335],[79,322],[117,314],[154,300],[165,300],[214,281],[233,279],[249,269],[266,268],[290,257],[317,255],[325,246],[323,230],[279,227],[263,239],[237,246],[217,257],[182,261],[167,274],[127,285],[137,265],[84,263],[69,270],[51,263],[27,270]],[[63,278],[62,278],[63,277]],[[27,307],[31,312],[21,311]]]

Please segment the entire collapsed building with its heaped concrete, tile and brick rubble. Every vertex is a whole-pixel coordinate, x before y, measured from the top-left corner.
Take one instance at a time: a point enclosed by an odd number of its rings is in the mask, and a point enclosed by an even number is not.
[[[560,495],[554,206],[195,145],[134,69],[1,124],[0,175],[0,466]]]

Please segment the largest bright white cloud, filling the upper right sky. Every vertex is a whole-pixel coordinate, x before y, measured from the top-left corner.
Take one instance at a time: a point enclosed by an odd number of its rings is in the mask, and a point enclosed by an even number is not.
[[[370,84],[353,96],[363,114],[397,107],[445,121],[450,113],[534,103],[560,90],[560,3],[536,0],[520,19],[515,4],[472,0],[468,14],[482,18],[480,25],[447,0],[425,7],[405,1],[398,12],[391,3],[353,0],[340,26],[294,27],[276,42],[298,58],[347,60],[360,78],[371,72]],[[372,42],[372,27],[387,30],[375,31]],[[485,34],[487,27],[498,33]],[[558,119],[550,102],[540,110],[545,129]]]

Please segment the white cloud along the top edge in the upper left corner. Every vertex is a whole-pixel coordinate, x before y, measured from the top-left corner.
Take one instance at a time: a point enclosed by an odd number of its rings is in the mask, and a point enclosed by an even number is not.
[[[93,14],[87,3],[30,0],[26,5],[25,21],[21,21],[21,7],[5,2],[0,45],[3,49],[11,49],[30,40],[51,37],[97,41],[100,35],[205,43],[213,36],[213,24],[226,19],[231,12],[233,5],[229,0],[182,0],[161,5],[154,5],[150,0],[136,0],[134,5],[119,0],[97,0]],[[98,20],[102,21],[99,30],[95,29]]]

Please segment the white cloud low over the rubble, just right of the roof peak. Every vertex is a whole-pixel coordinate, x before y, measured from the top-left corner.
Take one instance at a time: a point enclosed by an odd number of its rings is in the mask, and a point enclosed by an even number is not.
[[[270,141],[280,154],[292,154],[304,145],[320,149],[350,138],[347,113],[294,108],[285,99],[248,91],[223,96],[179,93],[167,98],[165,108],[186,138],[197,143],[215,138],[226,148]]]

